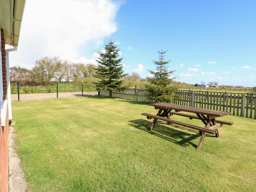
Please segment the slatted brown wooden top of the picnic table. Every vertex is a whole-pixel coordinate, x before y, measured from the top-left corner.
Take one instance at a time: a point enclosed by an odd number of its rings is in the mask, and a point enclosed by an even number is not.
[[[190,107],[190,106],[184,106],[184,105],[176,105],[171,103],[151,103],[149,105],[155,106],[157,108],[173,109],[178,111],[204,114],[204,115],[215,116],[215,117],[223,117],[230,114],[230,112],[217,111],[217,110],[211,110],[211,109],[202,109],[202,108],[196,108],[196,107]]]

